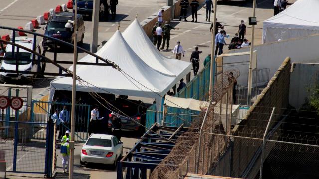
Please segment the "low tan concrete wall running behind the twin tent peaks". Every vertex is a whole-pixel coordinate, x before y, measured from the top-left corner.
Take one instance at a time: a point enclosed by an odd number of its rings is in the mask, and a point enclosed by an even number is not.
[[[191,0],[188,0],[189,3],[191,2]],[[204,3],[205,0],[198,0],[200,3],[200,7],[201,8],[202,4]],[[170,6],[163,6],[161,9],[164,9],[165,12],[163,14],[163,20],[167,21],[167,20],[171,20],[172,19],[172,13],[174,13],[174,18],[179,19],[179,15],[180,15],[180,4],[181,0],[174,0],[174,5],[173,7]],[[158,12],[161,10],[159,9]],[[190,11],[190,8],[188,8],[188,11]],[[151,16],[149,16],[148,18],[144,19],[140,24],[142,25],[145,33],[150,37],[152,35],[152,28],[155,25],[155,22],[157,21],[157,16],[158,16],[158,12],[152,14]],[[189,13],[189,12],[188,12]]]

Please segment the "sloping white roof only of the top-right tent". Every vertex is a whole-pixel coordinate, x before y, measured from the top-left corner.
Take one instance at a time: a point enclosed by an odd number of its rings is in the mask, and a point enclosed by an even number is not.
[[[265,27],[319,30],[319,0],[297,0],[281,13],[264,21]]]

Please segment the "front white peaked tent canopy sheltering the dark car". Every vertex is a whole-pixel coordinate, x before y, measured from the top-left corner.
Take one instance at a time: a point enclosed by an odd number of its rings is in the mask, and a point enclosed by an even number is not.
[[[130,96],[155,98],[157,110],[161,110],[162,98],[160,96],[165,95],[175,85],[176,77],[163,75],[144,63],[126,43],[119,31],[115,32],[96,55],[115,62],[124,72],[147,88],[109,66],[78,65],[77,75],[92,85],[85,84],[91,88],[88,89],[77,82],[77,91],[87,92],[93,90],[99,93],[108,91],[117,95],[129,94]],[[80,61],[95,62],[95,57],[87,55]],[[100,63],[104,62],[100,61]],[[70,67],[70,70],[72,70],[72,67]],[[71,77],[53,80],[50,88],[50,100],[53,98],[54,89],[72,90],[71,87]]]

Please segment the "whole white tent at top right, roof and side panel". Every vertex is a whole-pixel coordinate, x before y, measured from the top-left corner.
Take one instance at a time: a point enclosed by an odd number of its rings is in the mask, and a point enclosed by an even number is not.
[[[319,0],[297,0],[263,23],[263,43],[319,33]]]

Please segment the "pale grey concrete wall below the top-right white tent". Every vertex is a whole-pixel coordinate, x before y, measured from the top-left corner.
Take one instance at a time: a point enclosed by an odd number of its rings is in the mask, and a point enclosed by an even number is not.
[[[319,35],[284,40],[280,42],[266,43],[255,46],[257,50],[257,68],[270,68],[270,77],[276,72],[282,63],[282,59],[290,57],[291,62],[318,63],[319,59]],[[228,53],[247,52],[250,47],[231,50]],[[224,63],[249,61],[249,55],[238,57],[224,57]],[[237,79],[239,85],[247,85],[248,65],[236,65],[240,71]],[[228,67],[229,68],[229,67]]]

